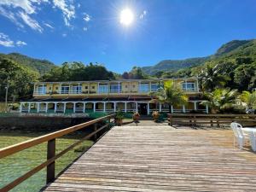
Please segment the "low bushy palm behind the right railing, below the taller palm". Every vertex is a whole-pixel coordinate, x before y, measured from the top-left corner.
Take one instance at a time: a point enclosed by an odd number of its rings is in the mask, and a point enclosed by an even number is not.
[[[205,93],[208,101],[201,102],[202,105],[209,106],[212,113],[218,113],[221,110],[236,107],[237,90],[216,89]]]

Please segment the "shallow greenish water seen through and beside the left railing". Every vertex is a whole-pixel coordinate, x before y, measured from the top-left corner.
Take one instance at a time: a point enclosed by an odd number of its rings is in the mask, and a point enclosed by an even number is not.
[[[24,132],[1,132],[0,148],[20,143],[31,139],[32,137],[39,137],[45,133],[24,133]],[[72,143],[79,140],[83,134],[74,134],[72,136],[62,137],[56,140],[56,154],[61,150],[67,148]],[[73,148],[67,154],[55,162],[55,173],[58,174],[66,168],[73,160],[75,160],[84,150],[90,148],[93,143],[91,141],[84,141],[78,147]],[[38,146],[27,148],[17,154],[0,160],[0,188],[22,174],[30,171],[35,166],[43,163],[46,160],[47,143],[39,144]],[[11,191],[38,191],[45,185],[46,171],[41,170],[32,177],[28,178],[24,183],[21,183]]]

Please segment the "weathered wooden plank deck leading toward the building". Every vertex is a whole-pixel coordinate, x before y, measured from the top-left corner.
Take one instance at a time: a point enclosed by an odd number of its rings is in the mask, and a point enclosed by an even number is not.
[[[45,191],[256,191],[256,154],[229,130],[114,127]]]

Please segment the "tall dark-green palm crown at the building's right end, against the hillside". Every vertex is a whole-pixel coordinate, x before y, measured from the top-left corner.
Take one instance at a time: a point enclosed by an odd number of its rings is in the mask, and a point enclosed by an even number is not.
[[[209,63],[206,67],[201,68],[199,80],[201,81],[203,91],[212,91],[216,87],[224,87],[226,82],[230,80],[230,77],[221,74],[221,68],[218,65]]]

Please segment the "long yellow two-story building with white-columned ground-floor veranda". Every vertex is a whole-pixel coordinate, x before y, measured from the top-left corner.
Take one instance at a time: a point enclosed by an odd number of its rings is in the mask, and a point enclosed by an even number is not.
[[[208,113],[208,109],[200,105],[201,91],[196,78],[37,82],[34,84],[33,98],[20,102],[20,112],[169,112],[167,104],[155,102],[148,94],[158,90],[161,84],[169,80],[179,84],[189,96],[187,105],[171,106],[172,113],[188,113],[191,110]]]

